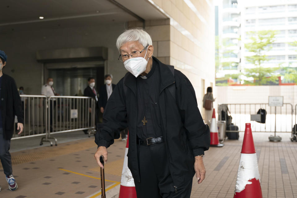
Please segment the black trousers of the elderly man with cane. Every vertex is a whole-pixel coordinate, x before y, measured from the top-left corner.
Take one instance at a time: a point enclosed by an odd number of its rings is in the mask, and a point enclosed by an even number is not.
[[[137,198],[190,198],[192,179],[174,188],[164,142],[137,145],[137,155],[140,170],[140,182],[134,179]]]

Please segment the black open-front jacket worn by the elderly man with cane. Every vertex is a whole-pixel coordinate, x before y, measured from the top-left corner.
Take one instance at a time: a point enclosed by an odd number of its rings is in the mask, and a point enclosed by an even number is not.
[[[209,149],[209,127],[203,122],[194,88],[187,77],[178,70],[174,70],[173,76],[169,67],[153,58],[158,62],[161,75],[159,107],[170,174],[174,185],[179,186],[193,178],[194,156],[204,154]],[[123,86],[127,86],[126,94]],[[170,93],[170,86],[176,88],[176,99]],[[128,126],[128,167],[136,181],[140,181],[136,150],[136,93],[135,76],[127,75],[125,85],[123,79],[119,81],[107,102],[103,124],[98,125],[100,132],[96,133],[95,142],[98,146],[109,147],[114,139],[120,137],[120,131]]]

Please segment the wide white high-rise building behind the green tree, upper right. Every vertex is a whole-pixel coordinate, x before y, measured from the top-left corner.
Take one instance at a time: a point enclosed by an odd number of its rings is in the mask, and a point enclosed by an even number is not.
[[[239,0],[241,6],[241,66],[253,68],[255,65],[244,57],[251,55],[244,49],[244,43],[249,40],[250,31],[275,30],[275,41],[265,52],[268,61],[263,67],[297,67],[297,46],[291,45],[297,41],[297,0]]]

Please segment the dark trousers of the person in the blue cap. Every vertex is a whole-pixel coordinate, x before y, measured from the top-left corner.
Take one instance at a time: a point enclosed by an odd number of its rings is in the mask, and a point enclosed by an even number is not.
[[[4,139],[3,129],[0,128],[0,159],[4,174],[9,176],[12,174],[11,155],[9,153],[10,140]]]

